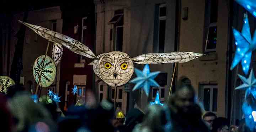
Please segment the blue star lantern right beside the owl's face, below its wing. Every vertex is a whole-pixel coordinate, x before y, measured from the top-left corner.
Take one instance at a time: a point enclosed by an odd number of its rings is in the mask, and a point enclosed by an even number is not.
[[[154,78],[158,76],[160,72],[158,71],[150,73],[148,64],[145,65],[143,71],[140,71],[137,68],[135,68],[134,71],[137,77],[130,81],[130,83],[136,83],[136,85],[133,88],[133,91],[139,88],[143,88],[145,94],[148,96],[150,86],[160,87],[159,84],[154,80]]]

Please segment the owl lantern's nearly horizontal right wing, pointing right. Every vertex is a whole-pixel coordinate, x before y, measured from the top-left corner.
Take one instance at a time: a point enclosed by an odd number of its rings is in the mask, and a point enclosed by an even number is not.
[[[132,58],[137,64],[184,63],[204,56],[205,54],[193,52],[148,53]]]

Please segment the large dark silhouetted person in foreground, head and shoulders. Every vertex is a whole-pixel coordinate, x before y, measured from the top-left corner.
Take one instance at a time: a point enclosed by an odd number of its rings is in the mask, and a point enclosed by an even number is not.
[[[202,121],[202,112],[195,103],[195,92],[191,85],[182,85],[172,94],[169,102],[172,132],[209,132]]]

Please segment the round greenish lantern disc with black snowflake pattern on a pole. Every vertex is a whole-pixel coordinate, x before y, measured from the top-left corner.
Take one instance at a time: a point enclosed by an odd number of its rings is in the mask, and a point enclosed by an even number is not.
[[[49,87],[53,83],[56,75],[56,66],[52,58],[50,56],[45,57],[45,55],[39,56],[34,62],[33,75],[39,86],[44,88]]]

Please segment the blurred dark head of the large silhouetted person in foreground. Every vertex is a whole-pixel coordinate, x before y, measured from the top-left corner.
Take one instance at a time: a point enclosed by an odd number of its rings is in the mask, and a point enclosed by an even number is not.
[[[191,85],[182,85],[174,93],[173,105],[182,112],[187,112],[188,108],[194,104],[195,92]]]

